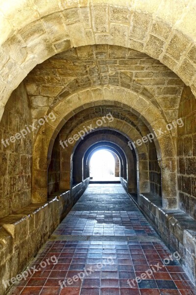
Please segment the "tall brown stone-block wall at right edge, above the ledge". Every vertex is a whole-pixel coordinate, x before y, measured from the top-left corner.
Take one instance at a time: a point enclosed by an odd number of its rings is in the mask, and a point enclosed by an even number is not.
[[[179,208],[196,219],[196,98],[190,88],[182,93],[178,118],[184,122],[177,138]]]

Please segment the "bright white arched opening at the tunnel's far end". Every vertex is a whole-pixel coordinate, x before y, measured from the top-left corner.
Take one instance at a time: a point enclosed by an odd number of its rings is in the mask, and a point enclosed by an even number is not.
[[[120,181],[120,161],[113,153],[100,149],[90,160],[90,178],[92,181]]]

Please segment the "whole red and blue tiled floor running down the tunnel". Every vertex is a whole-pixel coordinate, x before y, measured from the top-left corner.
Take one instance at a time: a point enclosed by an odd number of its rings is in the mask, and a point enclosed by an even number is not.
[[[121,184],[90,184],[9,295],[195,295],[170,255]]]

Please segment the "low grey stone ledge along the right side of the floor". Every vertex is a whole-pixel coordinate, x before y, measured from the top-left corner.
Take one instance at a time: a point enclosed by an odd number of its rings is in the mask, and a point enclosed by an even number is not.
[[[178,251],[182,267],[196,285],[196,221],[181,210],[163,210],[160,203],[157,206],[152,200],[148,194],[141,194],[134,202],[170,250]]]

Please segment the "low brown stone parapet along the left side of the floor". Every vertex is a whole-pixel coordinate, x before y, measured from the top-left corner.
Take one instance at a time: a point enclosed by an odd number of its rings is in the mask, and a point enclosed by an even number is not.
[[[90,178],[72,190],[57,193],[45,204],[30,204],[0,219],[0,294],[7,292],[2,280],[20,274],[34,258],[61,220],[72,209]]]

